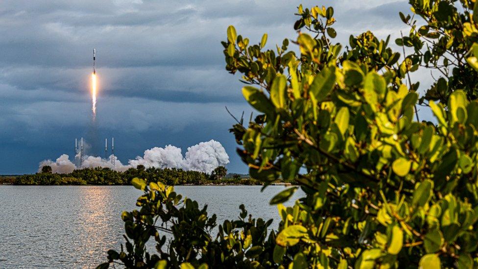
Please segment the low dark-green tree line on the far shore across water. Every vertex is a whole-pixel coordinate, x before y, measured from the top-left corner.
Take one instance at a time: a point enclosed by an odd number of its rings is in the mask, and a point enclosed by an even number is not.
[[[148,168],[139,165],[127,171],[119,172],[109,168],[85,168],[68,174],[51,173],[49,166],[42,172],[19,176],[0,177],[0,183],[15,185],[130,185],[135,177],[149,178],[167,185],[262,185],[252,178],[243,178],[240,174],[227,174],[225,167],[216,168],[211,174],[182,169]]]

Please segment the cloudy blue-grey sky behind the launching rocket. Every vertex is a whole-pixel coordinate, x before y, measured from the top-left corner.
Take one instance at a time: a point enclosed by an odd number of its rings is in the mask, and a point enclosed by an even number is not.
[[[184,154],[214,139],[229,154],[228,171],[246,173],[225,106],[238,117],[252,109],[239,75],[224,69],[220,41],[230,24],[250,43],[267,33],[267,48],[294,40],[299,3],[334,7],[334,43],[366,30],[394,40],[407,30],[398,12],[410,13],[407,1],[395,0],[1,0],[0,174],[36,172],[44,159],[72,156],[74,138],[88,135],[93,48],[91,144],[115,137],[125,163],[151,147],[171,144]]]

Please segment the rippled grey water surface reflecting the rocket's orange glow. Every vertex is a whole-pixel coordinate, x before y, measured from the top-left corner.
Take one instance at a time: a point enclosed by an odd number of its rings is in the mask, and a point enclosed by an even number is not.
[[[269,200],[282,186],[176,186],[175,192],[208,204],[217,223],[239,216],[243,203],[253,217],[279,215]],[[136,207],[142,192],[132,186],[0,185],[0,268],[95,268],[106,251],[124,242],[121,212]],[[303,196],[296,192],[287,205]]]

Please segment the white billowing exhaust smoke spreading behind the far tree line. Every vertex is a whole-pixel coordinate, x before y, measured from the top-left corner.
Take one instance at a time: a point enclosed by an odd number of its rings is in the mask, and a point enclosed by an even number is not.
[[[137,156],[136,159],[129,160],[127,165],[121,164],[116,156],[114,157],[116,165],[113,165],[111,161],[112,156],[108,159],[85,156],[79,168],[105,167],[116,171],[126,171],[129,168],[143,165],[146,168],[181,168],[211,173],[216,167],[225,166],[229,163],[229,156],[226,150],[221,143],[214,140],[188,147],[185,157],[183,157],[181,148],[171,145],[164,148],[153,147],[147,149],[144,151],[143,157]],[[79,158],[79,155],[76,157]],[[54,173],[70,173],[76,169],[75,164],[69,160],[67,154],[61,155],[55,162],[51,160],[40,162],[38,171],[41,171],[46,165],[49,165]]]

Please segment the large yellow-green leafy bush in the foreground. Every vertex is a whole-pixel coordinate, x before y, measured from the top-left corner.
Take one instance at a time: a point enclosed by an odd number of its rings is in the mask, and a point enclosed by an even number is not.
[[[213,240],[206,207],[136,178],[144,195],[139,211],[123,213],[126,249],[110,250],[99,268],[477,268],[478,4],[410,4],[426,24],[400,15],[412,30],[396,42],[414,48],[402,58],[371,32],[334,44],[331,7],[299,6],[297,39],[275,49],[267,34],[250,44],[229,26],[226,70],[242,74],[242,94],[261,113],[231,129],[238,153],[264,184],[299,185],[270,201],[277,230],[245,220],[241,206]],[[409,77],[419,68],[442,73],[420,100]],[[436,123],[417,119],[419,102]],[[298,188],[305,196],[282,205]],[[150,237],[157,254],[146,250]]]

